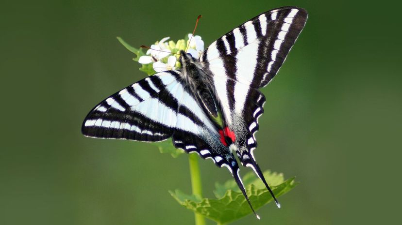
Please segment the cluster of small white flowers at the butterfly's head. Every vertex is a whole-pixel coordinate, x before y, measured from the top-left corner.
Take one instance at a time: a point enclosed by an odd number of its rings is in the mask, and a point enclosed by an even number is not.
[[[204,50],[204,42],[199,35],[194,36],[188,34],[188,40],[168,41],[169,37],[162,38],[162,40],[151,45],[151,49],[148,49],[146,55],[141,56],[138,62],[141,64],[152,63],[152,68],[155,72],[162,72],[167,70],[174,70],[180,68],[180,62],[178,61],[180,55],[178,53],[181,50],[186,50],[192,57],[199,59],[202,51]],[[190,42],[191,39],[191,42]]]

